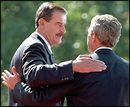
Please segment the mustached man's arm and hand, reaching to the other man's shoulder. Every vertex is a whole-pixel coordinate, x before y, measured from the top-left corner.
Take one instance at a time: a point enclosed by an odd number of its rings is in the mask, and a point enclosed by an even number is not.
[[[24,52],[23,75],[31,87],[61,84],[73,80],[73,72],[101,72],[106,69],[104,62],[79,55],[74,61],[47,64],[49,57],[41,44],[34,44]]]

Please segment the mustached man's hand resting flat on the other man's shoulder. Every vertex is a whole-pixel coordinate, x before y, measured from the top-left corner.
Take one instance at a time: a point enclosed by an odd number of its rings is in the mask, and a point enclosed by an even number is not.
[[[91,59],[89,55],[79,55],[73,61],[73,71],[80,73],[101,72],[106,69],[104,62]]]

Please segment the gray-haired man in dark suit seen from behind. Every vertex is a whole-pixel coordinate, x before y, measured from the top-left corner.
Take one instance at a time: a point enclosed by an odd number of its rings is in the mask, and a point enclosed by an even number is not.
[[[88,50],[93,52],[91,58],[105,62],[107,69],[74,73],[74,81],[40,90],[37,101],[44,105],[44,101],[55,102],[67,97],[68,106],[129,106],[129,63],[112,50],[120,35],[121,24],[115,17],[109,14],[95,16],[88,29]],[[24,103],[28,96],[33,102],[33,93],[38,92],[31,88],[26,91],[28,87],[27,84],[16,84],[14,90],[18,95],[15,99]]]

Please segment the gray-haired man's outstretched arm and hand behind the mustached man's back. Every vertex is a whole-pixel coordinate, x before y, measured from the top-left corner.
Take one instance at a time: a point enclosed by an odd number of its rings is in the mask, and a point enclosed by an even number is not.
[[[51,106],[60,102],[72,87],[72,82],[60,85],[51,85],[44,87],[31,88],[26,83],[20,82],[19,74],[12,69],[14,75],[8,70],[2,73],[2,83],[13,90],[13,99],[15,102],[28,106]]]

